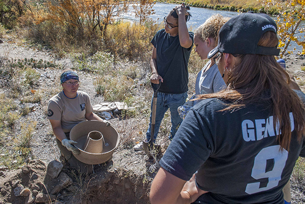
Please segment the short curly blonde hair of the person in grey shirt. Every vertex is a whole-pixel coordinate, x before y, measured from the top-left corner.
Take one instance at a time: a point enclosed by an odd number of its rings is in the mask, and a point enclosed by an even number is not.
[[[225,18],[219,14],[212,15],[202,25],[200,25],[194,33],[199,36],[202,41],[205,41],[208,38],[213,38],[215,45],[217,45],[219,30],[229,19],[229,17]]]

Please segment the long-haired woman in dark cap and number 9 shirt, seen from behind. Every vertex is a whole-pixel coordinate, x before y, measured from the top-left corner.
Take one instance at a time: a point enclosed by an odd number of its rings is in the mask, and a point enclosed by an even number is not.
[[[277,25],[243,13],[208,54],[227,89],[201,95],[181,123],[151,185],[151,203],[284,203],[305,157],[305,95],[277,63]],[[173,185],[174,184],[174,185]]]

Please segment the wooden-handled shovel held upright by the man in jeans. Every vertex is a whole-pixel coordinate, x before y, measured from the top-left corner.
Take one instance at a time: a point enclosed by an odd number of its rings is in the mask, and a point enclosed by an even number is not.
[[[155,124],[156,124],[156,111],[157,111],[157,96],[158,96],[158,90],[161,87],[161,79],[159,80],[159,86],[155,90],[153,84],[151,84],[151,87],[154,89],[154,98],[153,98],[153,110],[151,111],[151,131],[150,131],[150,140],[148,142],[143,142],[143,149],[145,151],[145,154],[148,156],[149,159],[153,158],[153,156],[150,154],[151,150],[155,150],[155,152],[158,154],[160,151],[160,145],[154,145],[154,134],[155,134]]]

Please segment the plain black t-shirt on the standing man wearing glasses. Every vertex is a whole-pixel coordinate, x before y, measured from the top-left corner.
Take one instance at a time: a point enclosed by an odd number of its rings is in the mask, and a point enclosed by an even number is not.
[[[194,41],[194,33],[189,32],[190,38]],[[181,47],[179,35],[172,37],[159,30],[151,43],[157,50],[157,71],[163,78],[159,89],[163,93],[184,93],[188,91],[189,73],[188,63],[192,47]]]

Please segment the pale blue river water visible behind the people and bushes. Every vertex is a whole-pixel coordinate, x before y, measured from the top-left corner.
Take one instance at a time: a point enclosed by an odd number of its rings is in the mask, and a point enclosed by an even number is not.
[[[163,17],[167,16],[169,11],[172,10],[175,6],[176,6],[175,4],[157,3],[153,8],[156,13],[154,15],[150,15],[149,17],[156,22],[162,23]],[[120,16],[121,19],[138,21],[139,19],[135,18],[133,7],[130,6],[129,8],[130,9],[128,10],[128,12]],[[218,11],[218,10],[197,8],[197,7],[191,7],[190,13],[192,17],[187,22],[187,25],[189,27],[189,30],[191,31],[195,31],[202,23],[205,22],[206,19],[208,19],[214,14],[220,14],[224,17],[233,17],[238,15],[238,12]],[[302,22],[301,26],[305,26],[305,22]],[[291,45],[292,46],[289,46],[288,51],[292,51],[294,47],[296,48],[296,51],[302,51],[301,47],[295,44],[294,42],[292,42]]]

